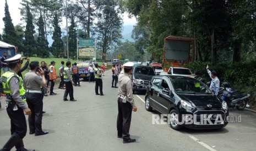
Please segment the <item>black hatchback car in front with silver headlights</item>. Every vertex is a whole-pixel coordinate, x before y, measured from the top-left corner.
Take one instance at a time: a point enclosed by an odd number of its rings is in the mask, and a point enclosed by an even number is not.
[[[179,75],[152,77],[145,108],[167,116],[172,129],[219,129],[228,124],[228,107],[199,80]],[[153,119],[153,118],[152,118]]]

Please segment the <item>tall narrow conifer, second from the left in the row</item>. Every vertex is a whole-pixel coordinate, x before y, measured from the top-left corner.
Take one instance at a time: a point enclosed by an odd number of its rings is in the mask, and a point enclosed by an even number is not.
[[[34,38],[35,26],[33,25],[33,16],[30,12],[29,4],[26,5],[26,30],[24,40],[24,55],[32,56],[36,52],[36,40]]]

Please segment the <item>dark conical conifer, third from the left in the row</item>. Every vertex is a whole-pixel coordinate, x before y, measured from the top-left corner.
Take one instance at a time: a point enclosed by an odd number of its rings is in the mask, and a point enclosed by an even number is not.
[[[48,51],[48,42],[45,39],[45,30],[44,30],[44,23],[42,14],[40,14],[39,21],[37,22],[38,28],[38,37],[37,37],[37,56],[40,57],[48,57],[49,51]]]

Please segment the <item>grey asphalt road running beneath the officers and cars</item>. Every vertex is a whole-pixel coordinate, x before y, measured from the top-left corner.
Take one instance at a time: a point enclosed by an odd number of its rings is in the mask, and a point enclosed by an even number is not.
[[[172,130],[169,125],[152,124],[145,110],[145,94],[134,95],[138,111],[132,113],[130,135],[137,142],[123,144],[117,138],[117,89],[111,88],[112,75],[103,77],[104,96],[95,95],[95,83],[82,82],[74,87],[78,101],[63,101],[64,90],[43,98],[42,128],[47,135],[29,135],[25,148],[36,150],[255,150],[256,114],[230,110],[233,119],[219,130]],[[69,98],[68,98],[69,99]],[[1,97],[4,105],[4,97]],[[235,120],[239,117],[241,121]],[[0,148],[10,137],[10,120],[0,109]],[[15,149],[13,149],[15,150]]]

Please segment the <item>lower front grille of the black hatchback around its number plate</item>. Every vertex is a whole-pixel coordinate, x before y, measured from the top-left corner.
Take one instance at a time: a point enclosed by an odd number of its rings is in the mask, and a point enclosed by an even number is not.
[[[218,119],[219,121],[216,121],[215,119],[206,120],[204,116],[208,116],[210,114],[220,115],[223,121],[221,121],[220,118]],[[197,121],[197,123],[194,122],[195,125],[221,125],[224,124],[224,121],[226,120],[225,112],[219,110],[196,111],[194,113],[194,117],[197,117],[197,119],[194,120]],[[209,121],[211,121],[211,123]]]

